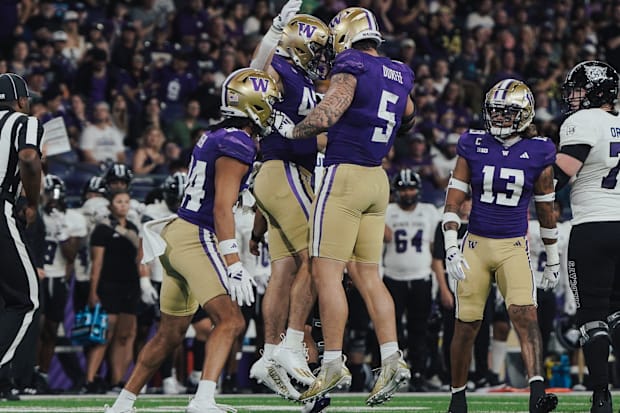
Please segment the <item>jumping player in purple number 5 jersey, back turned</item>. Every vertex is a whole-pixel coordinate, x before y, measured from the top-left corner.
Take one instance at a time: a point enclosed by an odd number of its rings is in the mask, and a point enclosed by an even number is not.
[[[279,118],[279,132],[308,138],[328,131],[325,175],[310,211],[312,277],[317,287],[325,353],[321,370],[301,400],[351,383],[342,355],[348,309],[341,283],[348,261],[353,282],[375,326],[381,373],[366,402],[381,404],[411,376],[398,349],[394,302],[379,277],[390,185],[381,167],[399,129],[413,125],[411,69],[382,57],[375,16],[360,7],[330,22],[336,54],[325,98],[296,126]],[[294,126],[294,127],[293,127]]]

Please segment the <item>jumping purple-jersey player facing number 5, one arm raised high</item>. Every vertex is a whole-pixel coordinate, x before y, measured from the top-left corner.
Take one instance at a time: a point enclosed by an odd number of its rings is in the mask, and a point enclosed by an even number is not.
[[[314,81],[327,74],[330,48],[327,25],[314,16],[295,15],[298,8],[297,0],[284,5],[251,64],[264,68],[276,80],[283,100],[274,108],[295,122],[316,106]],[[281,27],[279,19],[288,23]],[[303,340],[304,325],[316,301],[308,258],[308,219],[314,199],[314,166],[324,141],[324,135],[292,141],[277,131],[265,136],[261,140],[263,164],[254,183],[257,205],[268,221],[272,275],[262,304],[265,348],[250,369],[250,377],[290,399],[298,399],[299,392],[287,373],[306,386],[315,379]],[[253,238],[260,240],[262,235],[255,225]],[[285,328],[284,340],[277,345]]]

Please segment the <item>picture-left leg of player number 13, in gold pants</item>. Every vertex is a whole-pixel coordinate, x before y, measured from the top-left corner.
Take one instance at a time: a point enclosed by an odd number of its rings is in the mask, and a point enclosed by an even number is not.
[[[488,238],[468,234],[463,240],[463,255],[470,269],[465,269],[466,277],[456,283],[455,323],[450,345],[451,392],[449,411],[467,411],[465,389],[472,348],[484,316],[484,308],[491,289],[493,249]]]

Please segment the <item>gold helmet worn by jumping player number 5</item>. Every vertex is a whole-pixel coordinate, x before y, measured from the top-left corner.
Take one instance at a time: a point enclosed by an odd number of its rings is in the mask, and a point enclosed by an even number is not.
[[[362,7],[349,7],[341,10],[329,22],[329,29],[335,54],[350,49],[353,43],[360,40],[374,40],[377,46],[383,42],[375,15]]]

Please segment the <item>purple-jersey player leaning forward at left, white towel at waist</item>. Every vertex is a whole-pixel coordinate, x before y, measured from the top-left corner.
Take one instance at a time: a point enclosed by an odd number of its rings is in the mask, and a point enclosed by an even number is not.
[[[273,104],[278,100],[280,92],[275,81],[263,71],[240,69],[225,80],[221,108],[224,120],[194,147],[178,218],[161,230],[165,251],[162,239],[153,243],[147,239],[147,235],[150,238],[157,234],[147,231],[148,224],[145,226],[144,262],[163,253],[161,321],[156,335],[140,352],[127,385],[106,413],[133,411],[136,395],[181,343],[199,306],[209,314],[215,328],[207,342],[196,396],[186,412],[230,410],[215,403],[215,386],[235,339],[245,329],[235,300],[239,305],[253,303],[255,285],[239,259],[232,209],[252,169],[254,139],[269,133]]]

